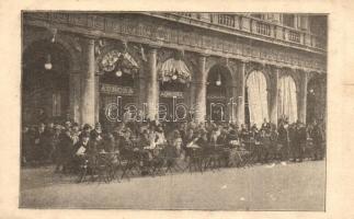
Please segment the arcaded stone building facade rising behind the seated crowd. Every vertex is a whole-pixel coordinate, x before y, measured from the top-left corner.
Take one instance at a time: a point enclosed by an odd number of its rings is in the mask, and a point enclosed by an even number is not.
[[[38,111],[105,127],[133,111],[326,120],[326,15],[24,12],[22,21],[23,124]]]

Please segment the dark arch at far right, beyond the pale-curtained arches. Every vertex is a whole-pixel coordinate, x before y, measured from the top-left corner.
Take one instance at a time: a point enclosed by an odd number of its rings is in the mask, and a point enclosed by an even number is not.
[[[306,122],[321,122],[326,117],[326,80],[313,77],[307,85]]]

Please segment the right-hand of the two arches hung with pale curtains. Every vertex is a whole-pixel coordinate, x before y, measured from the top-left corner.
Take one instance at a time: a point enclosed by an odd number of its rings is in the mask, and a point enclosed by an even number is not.
[[[297,90],[292,76],[284,74],[278,81],[278,118],[287,123],[297,120]]]

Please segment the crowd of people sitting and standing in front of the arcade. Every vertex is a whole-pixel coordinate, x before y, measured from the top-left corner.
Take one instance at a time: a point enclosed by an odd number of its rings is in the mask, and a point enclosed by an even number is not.
[[[75,169],[76,157],[100,151],[139,148],[173,147],[181,160],[186,160],[189,149],[209,146],[251,151],[256,163],[301,162],[305,158],[322,160],[324,132],[316,120],[305,125],[279,119],[277,126],[264,119],[256,125],[235,123],[159,123],[158,120],[117,123],[104,130],[100,123],[88,124],[48,122],[23,127],[22,163],[55,164],[57,172]],[[231,162],[231,159],[227,159]],[[229,165],[226,163],[225,165]]]

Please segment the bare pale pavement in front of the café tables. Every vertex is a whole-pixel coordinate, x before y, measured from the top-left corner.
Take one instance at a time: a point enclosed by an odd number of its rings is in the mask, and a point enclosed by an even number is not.
[[[326,162],[307,161],[193,174],[76,184],[53,166],[23,169],[25,208],[324,210]]]

